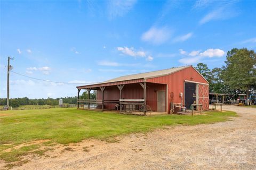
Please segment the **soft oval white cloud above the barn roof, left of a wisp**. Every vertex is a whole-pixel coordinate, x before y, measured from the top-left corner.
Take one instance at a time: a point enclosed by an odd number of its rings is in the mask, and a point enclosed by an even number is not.
[[[167,27],[151,27],[148,31],[142,34],[141,40],[152,44],[160,45],[169,40],[171,38],[171,34],[172,31]]]

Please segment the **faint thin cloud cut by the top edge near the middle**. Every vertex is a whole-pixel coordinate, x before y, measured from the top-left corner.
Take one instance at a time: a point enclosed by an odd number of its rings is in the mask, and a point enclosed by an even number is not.
[[[132,10],[136,1],[109,1],[108,13],[109,18],[114,19],[116,17],[124,16],[127,12]]]

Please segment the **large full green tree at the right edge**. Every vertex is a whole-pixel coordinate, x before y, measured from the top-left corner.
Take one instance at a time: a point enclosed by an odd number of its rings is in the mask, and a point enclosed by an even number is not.
[[[246,91],[256,88],[256,53],[247,48],[233,48],[227,53],[222,78],[231,89]]]

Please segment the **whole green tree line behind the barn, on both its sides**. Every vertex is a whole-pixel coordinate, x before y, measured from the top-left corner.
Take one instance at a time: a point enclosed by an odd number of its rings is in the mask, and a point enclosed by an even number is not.
[[[207,64],[198,63],[196,69],[209,82],[210,92],[237,95],[255,93],[256,90],[256,53],[247,48],[233,48],[227,52],[225,65],[221,68],[209,69]],[[90,94],[90,99],[96,99],[96,91]],[[87,90],[83,92],[80,99],[88,99]],[[20,105],[58,105],[59,99],[63,104],[76,104],[77,97],[29,99],[10,99],[12,107]],[[6,98],[0,98],[0,105],[6,105]]]

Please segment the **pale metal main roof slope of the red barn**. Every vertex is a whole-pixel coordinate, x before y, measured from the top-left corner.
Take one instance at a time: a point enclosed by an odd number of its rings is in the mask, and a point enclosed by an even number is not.
[[[127,80],[134,80],[134,79],[148,79],[153,77],[160,77],[163,75],[172,74],[174,72],[186,69],[189,66],[181,66],[181,67],[173,67],[171,69],[165,69],[165,70],[158,70],[158,71],[151,71],[146,73],[139,73],[139,74],[132,74],[132,75],[124,75],[122,77],[118,77],[115,79],[110,79],[107,81],[103,81],[101,83],[110,83],[110,82],[117,82],[117,81],[127,81]]]

